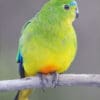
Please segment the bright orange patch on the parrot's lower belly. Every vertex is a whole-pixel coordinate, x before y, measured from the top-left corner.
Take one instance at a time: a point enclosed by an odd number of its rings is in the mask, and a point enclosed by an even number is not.
[[[55,72],[56,70],[57,70],[56,66],[45,66],[41,68],[40,73],[49,74]]]

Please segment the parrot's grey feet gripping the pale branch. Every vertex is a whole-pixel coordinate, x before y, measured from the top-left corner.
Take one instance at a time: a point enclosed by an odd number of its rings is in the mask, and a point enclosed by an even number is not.
[[[45,91],[46,87],[55,88],[58,82],[58,74],[56,72],[50,73],[48,75],[39,73],[41,79],[42,90]]]

